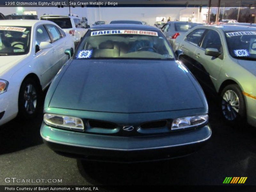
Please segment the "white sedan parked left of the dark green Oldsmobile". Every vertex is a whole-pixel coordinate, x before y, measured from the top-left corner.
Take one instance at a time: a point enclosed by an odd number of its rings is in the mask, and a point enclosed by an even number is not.
[[[40,20],[0,21],[0,125],[17,114],[33,118],[42,90],[74,49],[68,34],[55,23]]]

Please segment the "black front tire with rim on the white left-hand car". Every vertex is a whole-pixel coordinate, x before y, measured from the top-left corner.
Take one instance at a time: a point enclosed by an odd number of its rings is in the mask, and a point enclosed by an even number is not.
[[[26,119],[36,117],[41,102],[42,90],[38,83],[32,78],[25,79],[20,86],[18,116]]]

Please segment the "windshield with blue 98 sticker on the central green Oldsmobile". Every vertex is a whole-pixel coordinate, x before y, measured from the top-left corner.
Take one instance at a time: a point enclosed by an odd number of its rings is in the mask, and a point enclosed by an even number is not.
[[[89,30],[75,59],[163,59],[174,60],[170,45],[156,30]]]

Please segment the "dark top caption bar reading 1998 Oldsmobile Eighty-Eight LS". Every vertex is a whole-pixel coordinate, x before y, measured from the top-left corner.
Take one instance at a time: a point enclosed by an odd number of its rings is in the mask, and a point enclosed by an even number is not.
[[[254,0],[1,0],[0,7],[256,7]]]

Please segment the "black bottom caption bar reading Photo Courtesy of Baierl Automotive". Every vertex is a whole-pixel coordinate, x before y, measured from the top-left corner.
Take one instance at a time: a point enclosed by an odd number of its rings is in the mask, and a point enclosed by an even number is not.
[[[0,186],[1,192],[79,192],[79,191],[91,191],[91,192],[117,192],[117,191],[127,191],[127,192],[136,192],[136,191],[147,191],[147,192],[169,192],[169,191],[255,191],[256,186],[241,186],[241,185],[218,185],[218,186],[144,186],[144,185],[128,185],[128,186],[47,186],[47,185],[21,185],[21,186]]]

